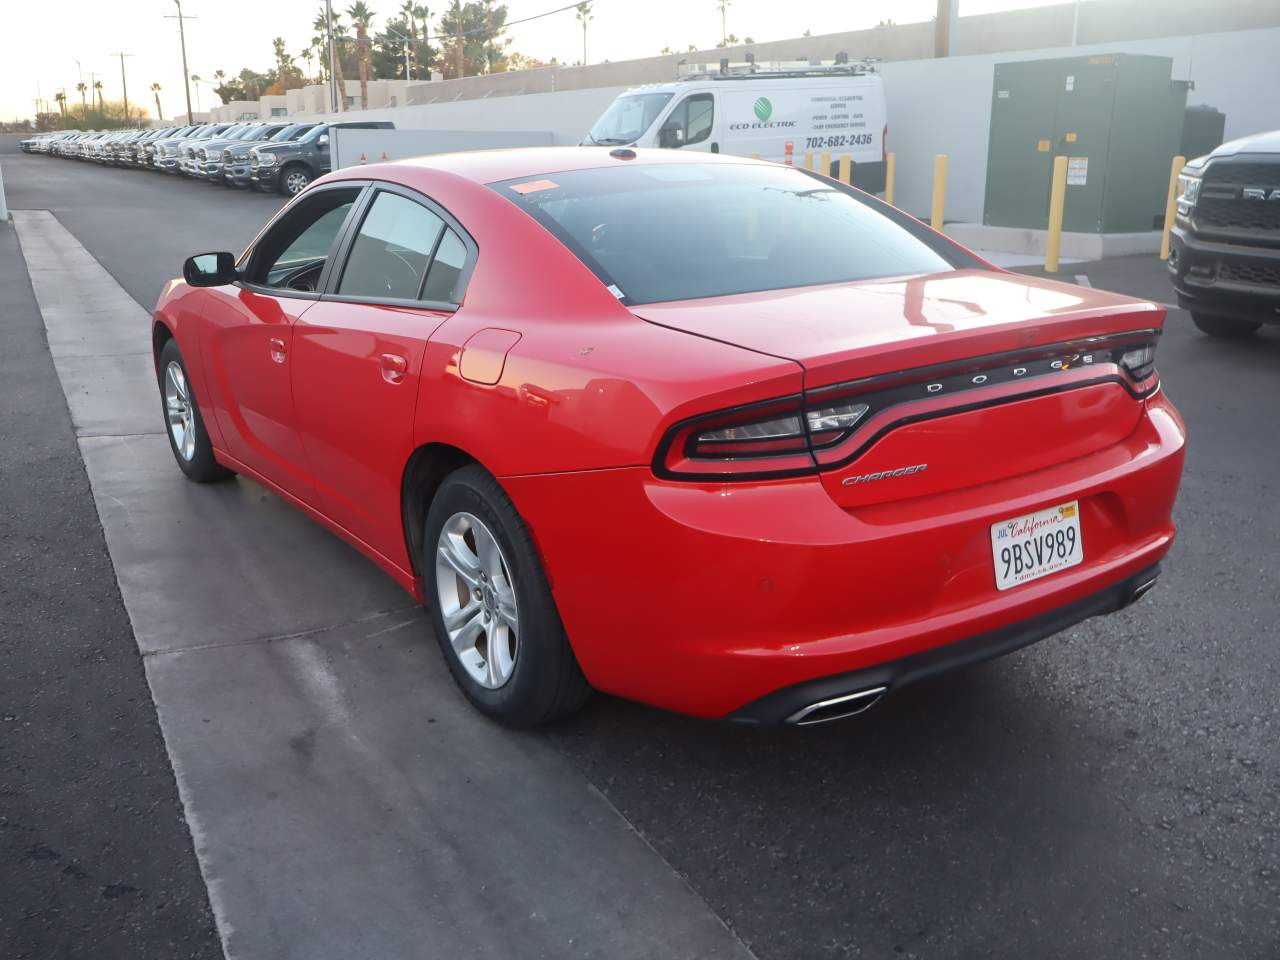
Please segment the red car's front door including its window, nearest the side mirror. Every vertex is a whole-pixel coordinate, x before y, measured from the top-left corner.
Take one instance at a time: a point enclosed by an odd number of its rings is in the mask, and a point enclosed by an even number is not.
[[[314,497],[289,383],[293,325],[315,306],[358,195],[317,191],[294,205],[259,239],[243,280],[204,310],[205,375],[227,452],[305,500]]]

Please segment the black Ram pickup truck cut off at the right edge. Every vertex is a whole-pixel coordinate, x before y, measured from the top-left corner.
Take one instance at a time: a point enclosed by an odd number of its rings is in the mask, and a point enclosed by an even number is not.
[[[1280,131],[1224,143],[1183,168],[1169,273],[1213,337],[1280,324]]]

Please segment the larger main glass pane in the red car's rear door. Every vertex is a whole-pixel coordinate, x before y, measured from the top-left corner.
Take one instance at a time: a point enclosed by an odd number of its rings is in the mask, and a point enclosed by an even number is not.
[[[421,204],[380,192],[360,225],[338,294],[417,300],[444,221]]]

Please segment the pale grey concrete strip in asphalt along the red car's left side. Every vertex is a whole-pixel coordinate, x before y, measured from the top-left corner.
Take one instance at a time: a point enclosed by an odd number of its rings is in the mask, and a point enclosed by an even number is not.
[[[15,221],[225,955],[751,957],[547,739],[467,705],[372,564],[187,483],[147,311]]]

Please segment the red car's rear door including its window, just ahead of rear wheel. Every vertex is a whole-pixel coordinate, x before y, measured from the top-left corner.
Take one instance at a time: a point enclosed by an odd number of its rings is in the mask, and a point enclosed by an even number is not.
[[[320,509],[406,568],[401,481],[422,355],[461,301],[474,259],[444,210],[376,184],[324,297],[294,326],[293,399]]]

